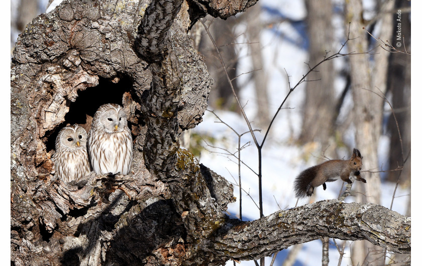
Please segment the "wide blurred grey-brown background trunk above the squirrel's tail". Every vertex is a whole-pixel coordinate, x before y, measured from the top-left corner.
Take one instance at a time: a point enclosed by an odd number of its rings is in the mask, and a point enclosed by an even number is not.
[[[312,67],[324,59],[327,52],[333,54],[333,26],[331,0],[307,0],[307,32],[309,36],[309,65]],[[318,142],[326,148],[333,134],[335,115],[333,61],[324,62],[306,80],[306,96],[303,105],[303,124],[300,141]]]

